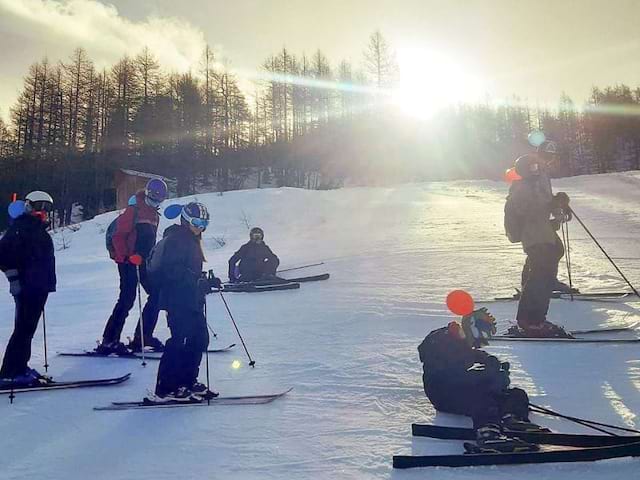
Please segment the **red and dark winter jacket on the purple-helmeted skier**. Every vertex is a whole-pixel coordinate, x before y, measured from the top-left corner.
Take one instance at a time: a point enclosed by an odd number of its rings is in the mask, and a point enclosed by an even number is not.
[[[116,221],[112,238],[113,259],[124,263],[135,253],[147,258],[156,244],[159,221],[158,210],[147,205],[143,191],[138,192],[136,204],[129,205]]]

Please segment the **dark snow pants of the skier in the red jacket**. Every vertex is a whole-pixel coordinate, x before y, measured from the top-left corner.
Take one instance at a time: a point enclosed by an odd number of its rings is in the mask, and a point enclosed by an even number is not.
[[[102,334],[102,341],[104,343],[120,341],[125,320],[136,301],[138,289],[136,266],[130,263],[119,263],[118,273],[120,274],[120,295],[113,309],[113,313],[111,313],[107,325],[104,328],[104,333]],[[153,331],[158,323],[158,295],[151,288],[147,277],[147,268],[144,263],[140,265],[140,283],[149,295],[142,310],[142,320],[144,322],[144,336],[150,338],[153,336]],[[138,339],[138,341],[140,339],[139,320],[138,326],[136,327],[135,338]]]

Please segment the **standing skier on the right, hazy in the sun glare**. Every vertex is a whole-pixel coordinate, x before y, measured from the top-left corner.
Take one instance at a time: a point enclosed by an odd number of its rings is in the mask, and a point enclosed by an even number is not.
[[[509,189],[505,226],[512,242],[522,242],[527,260],[516,315],[519,329],[512,333],[569,337],[564,329],[546,319],[558,283],[558,264],[564,255],[556,231],[561,222],[571,219],[569,196],[564,192],[553,195],[541,154],[519,157],[515,168],[522,179],[514,181]]]

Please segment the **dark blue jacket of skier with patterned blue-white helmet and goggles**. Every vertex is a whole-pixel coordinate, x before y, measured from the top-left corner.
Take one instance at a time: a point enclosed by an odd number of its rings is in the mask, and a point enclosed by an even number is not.
[[[201,312],[204,294],[198,289],[198,280],[202,274],[204,255],[200,238],[186,225],[172,225],[164,231],[156,249],[162,255],[153,275],[161,278],[152,278],[152,282],[159,288],[160,309]]]

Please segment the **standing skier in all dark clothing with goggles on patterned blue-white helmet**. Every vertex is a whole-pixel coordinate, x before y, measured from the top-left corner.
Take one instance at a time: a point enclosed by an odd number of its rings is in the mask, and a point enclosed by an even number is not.
[[[198,382],[202,354],[209,345],[204,315],[205,295],[221,288],[218,278],[202,276],[202,233],[209,212],[201,203],[182,208],[180,225],[172,225],[153,249],[149,274],[159,290],[159,306],[167,311],[171,338],[165,345],[155,401],[194,401],[217,396]]]

